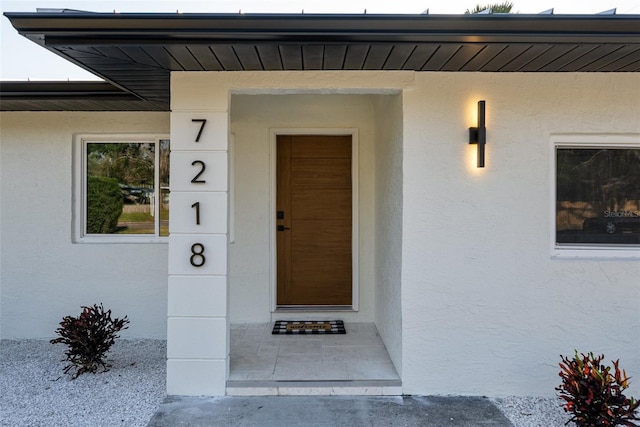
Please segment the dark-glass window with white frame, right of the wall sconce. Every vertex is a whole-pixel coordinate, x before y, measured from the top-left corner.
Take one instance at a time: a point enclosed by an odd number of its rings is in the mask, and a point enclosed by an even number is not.
[[[583,141],[580,141],[583,139]],[[640,248],[640,144],[578,137],[555,144],[555,249]],[[583,252],[584,253],[584,252]]]

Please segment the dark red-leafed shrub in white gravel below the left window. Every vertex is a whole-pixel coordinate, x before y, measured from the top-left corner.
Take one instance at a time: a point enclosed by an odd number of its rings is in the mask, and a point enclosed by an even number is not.
[[[128,323],[127,316],[112,319],[111,310],[104,311],[102,304],[83,306],[78,317],[64,317],[56,329],[60,337],[50,341],[51,344],[62,343],[69,347],[64,353],[67,358],[62,360],[69,362],[64,373],[75,368],[75,379],[86,372],[95,373],[99,367],[108,371],[110,365],[105,361],[105,354],[118,338],[117,333],[128,328]]]

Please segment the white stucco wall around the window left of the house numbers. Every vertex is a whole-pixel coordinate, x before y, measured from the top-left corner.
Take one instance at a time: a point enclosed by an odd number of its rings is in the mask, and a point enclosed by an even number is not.
[[[104,303],[122,337],[165,338],[166,244],[72,243],[74,133],[169,133],[168,113],[4,112],[0,338],[50,338]]]

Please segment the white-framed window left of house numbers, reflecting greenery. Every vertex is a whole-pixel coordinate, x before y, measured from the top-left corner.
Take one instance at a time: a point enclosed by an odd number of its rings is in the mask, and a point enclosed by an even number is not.
[[[169,139],[76,138],[76,241],[151,242],[169,235]]]

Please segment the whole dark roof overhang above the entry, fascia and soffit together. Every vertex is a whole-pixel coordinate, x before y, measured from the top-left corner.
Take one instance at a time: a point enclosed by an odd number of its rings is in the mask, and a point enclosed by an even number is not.
[[[172,71],[636,72],[640,15],[5,13],[160,109]]]

